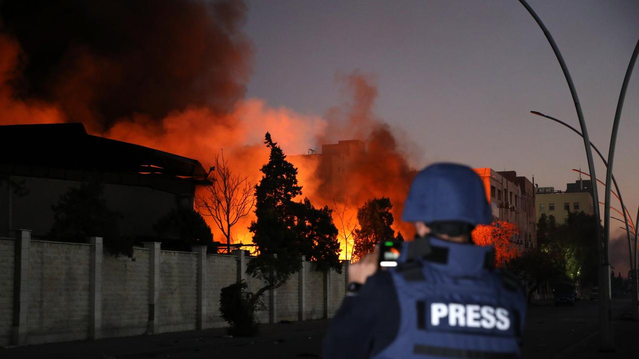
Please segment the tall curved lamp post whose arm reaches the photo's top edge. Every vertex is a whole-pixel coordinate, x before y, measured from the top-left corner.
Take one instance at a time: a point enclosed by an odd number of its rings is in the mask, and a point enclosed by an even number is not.
[[[570,76],[570,72],[568,72],[568,68],[566,66],[566,62],[564,61],[564,57],[562,57],[561,52],[557,47],[557,43],[553,40],[553,36],[550,34],[548,29],[544,23],[539,19],[537,13],[528,5],[525,0],[520,0],[520,3],[528,10],[528,13],[532,15],[537,25],[541,27],[541,31],[543,31],[546,39],[550,43],[550,47],[552,47],[553,52],[555,52],[555,57],[557,57],[557,61],[561,66],[562,72],[564,72],[564,77],[566,77],[566,82],[568,83],[568,88],[570,89],[570,94],[573,96],[574,109],[577,112],[577,118],[579,119],[579,125],[581,126],[581,134],[583,134],[583,146],[586,150],[586,158],[588,160],[588,169],[590,172],[590,178],[597,178],[595,173],[595,165],[592,160],[592,151],[590,151],[590,137],[588,135],[588,129],[586,127],[586,122],[583,119],[583,112],[581,111],[581,105],[579,102],[579,98],[577,96],[577,91],[574,89],[573,79]],[[597,194],[597,186],[592,186],[592,201],[594,203],[599,202],[599,195]],[[601,218],[599,213],[599,206],[593,206],[595,218]],[[597,233],[597,248],[601,248],[601,226],[596,225],[596,233]],[[604,351],[612,351],[614,349],[613,337],[612,337],[612,313],[611,313],[611,305],[612,299],[610,298],[610,261],[608,260],[608,243],[604,243],[603,255],[601,256],[600,264],[600,273],[599,273],[599,287],[603,290],[601,293],[603,294],[601,300],[599,300],[599,342],[600,349]],[[601,249],[600,249],[601,250]]]

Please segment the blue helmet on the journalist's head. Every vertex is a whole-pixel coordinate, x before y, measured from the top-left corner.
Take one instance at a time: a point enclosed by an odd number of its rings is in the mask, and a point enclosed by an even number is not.
[[[481,178],[470,167],[439,163],[420,171],[408,192],[402,219],[424,223],[457,221],[491,224]]]

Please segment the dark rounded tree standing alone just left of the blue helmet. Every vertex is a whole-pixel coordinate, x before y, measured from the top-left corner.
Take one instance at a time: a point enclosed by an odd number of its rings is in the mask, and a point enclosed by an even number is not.
[[[357,221],[360,227],[355,229],[353,236],[353,256],[362,258],[373,252],[377,243],[401,238],[396,237],[395,231],[390,227],[393,224],[393,214],[390,213],[392,208],[388,197],[371,199],[358,208]]]

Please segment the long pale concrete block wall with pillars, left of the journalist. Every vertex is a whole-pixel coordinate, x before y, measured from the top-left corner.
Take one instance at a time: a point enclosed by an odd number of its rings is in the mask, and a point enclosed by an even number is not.
[[[206,255],[150,244],[135,248],[133,260],[103,255],[101,238],[90,245],[32,240],[30,231],[0,238],[0,346],[226,326],[220,289],[238,280],[252,292],[264,286],[245,274],[251,257],[243,252]],[[302,272],[263,294],[256,317],[331,317],[345,278],[303,262]]]

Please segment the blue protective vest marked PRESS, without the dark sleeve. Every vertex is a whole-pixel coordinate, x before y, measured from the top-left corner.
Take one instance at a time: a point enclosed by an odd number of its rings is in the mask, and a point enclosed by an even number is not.
[[[516,280],[491,268],[493,248],[429,243],[427,256],[413,258],[406,243],[390,269],[399,332],[374,358],[519,358],[525,296]]]

